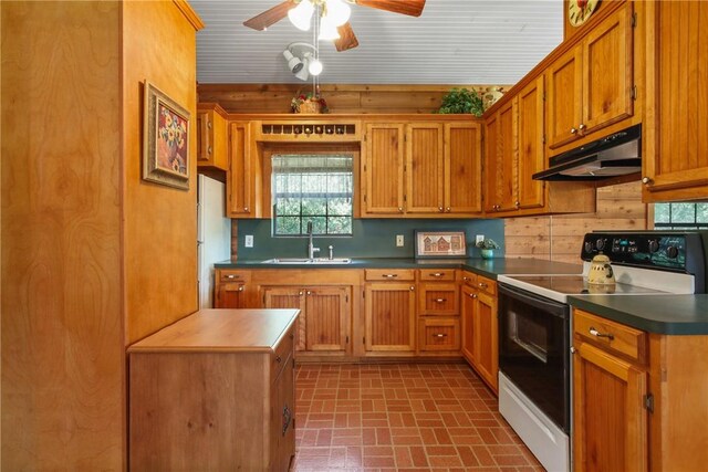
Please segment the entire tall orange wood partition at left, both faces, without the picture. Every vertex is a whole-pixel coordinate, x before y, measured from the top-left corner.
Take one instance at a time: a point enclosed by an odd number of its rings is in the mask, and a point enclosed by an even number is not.
[[[140,179],[142,81],[196,113],[190,12],[0,2],[3,470],[125,470],[125,346],[197,308],[196,162]]]

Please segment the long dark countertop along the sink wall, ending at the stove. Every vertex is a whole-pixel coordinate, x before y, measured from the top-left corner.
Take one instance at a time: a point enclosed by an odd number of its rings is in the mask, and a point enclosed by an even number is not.
[[[413,258],[353,258],[348,264],[273,264],[262,260],[223,261],[216,269],[465,269],[496,280],[497,275],[521,274],[579,274],[581,264],[542,261],[539,259],[413,259]]]

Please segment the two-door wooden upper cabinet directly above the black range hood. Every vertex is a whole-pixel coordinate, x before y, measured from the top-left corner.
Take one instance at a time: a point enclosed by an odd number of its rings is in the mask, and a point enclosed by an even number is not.
[[[633,116],[632,18],[626,2],[548,67],[550,149]]]

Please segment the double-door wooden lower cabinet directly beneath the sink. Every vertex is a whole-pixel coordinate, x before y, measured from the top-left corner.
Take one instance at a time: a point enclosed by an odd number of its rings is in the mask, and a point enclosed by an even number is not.
[[[299,353],[345,353],[351,319],[351,287],[263,286],[266,308],[301,310]]]

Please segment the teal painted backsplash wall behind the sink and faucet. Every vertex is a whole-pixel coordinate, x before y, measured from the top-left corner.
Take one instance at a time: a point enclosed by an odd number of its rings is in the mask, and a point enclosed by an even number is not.
[[[271,220],[239,220],[238,259],[306,258],[308,239],[273,238]],[[504,254],[504,223],[501,219],[489,220],[386,220],[355,219],[352,237],[315,237],[314,245],[321,249],[317,256],[327,256],[327,247],[334,247],[335,258],[413,258],[416,230],[461,230],[467,235],[467,254],[479,258],[475,248],[475,235],[483,234],[497,241],[501,249],[494,256]],[[253,235],[253,248],[244,248],[247,234]],[[403,234],[405,245],[396,247],[396,234]]]

